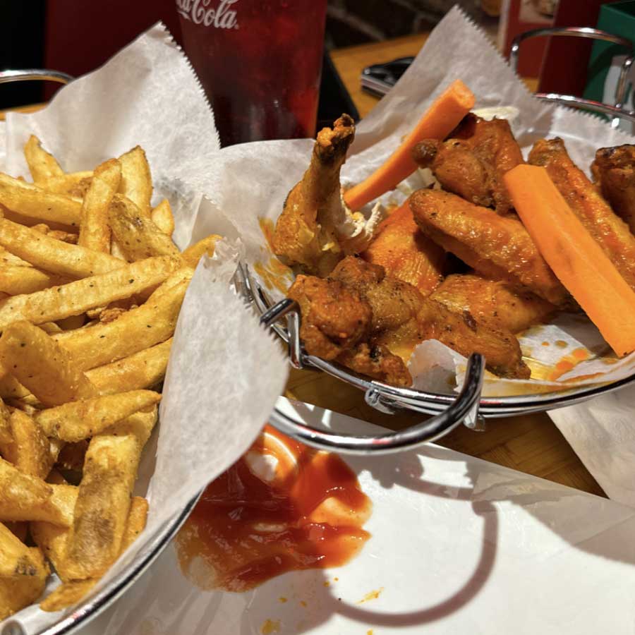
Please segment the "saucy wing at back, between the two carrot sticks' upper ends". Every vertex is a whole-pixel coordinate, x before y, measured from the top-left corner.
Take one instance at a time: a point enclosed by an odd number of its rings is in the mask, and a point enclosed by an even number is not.
[[[413,158],[433,171],[444,190],[498,214],[512,210],[502,176],[524,160],[507,120],[468,114],[446,141],[418,143]]]

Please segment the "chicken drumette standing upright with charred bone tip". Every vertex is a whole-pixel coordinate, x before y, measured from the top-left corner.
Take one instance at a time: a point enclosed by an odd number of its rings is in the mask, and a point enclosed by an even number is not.
[[[317,134],[310,165],[287,196],[274,231],[274,253],[285,265],[324,276],[343,257],[334,215],[341,212],[339,172],[354,136],[348,115]]]

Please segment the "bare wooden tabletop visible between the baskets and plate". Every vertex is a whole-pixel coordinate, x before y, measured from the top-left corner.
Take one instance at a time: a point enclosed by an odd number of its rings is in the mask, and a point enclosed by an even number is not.
[[[377,104],[376,97],[361,90],[359,76],[362,69],[373,63],[416,55],[426,38],[426,35],[410,35],[332,52],[334,64],[361,116],[368,114]],[[529,79],[526,83],[531,90],[536,90],[536,80]],[[19,110],[27,112],[40,107],[42,105]],[[0,112],[0,119],[4,119],[4,113]],[[387,428],[404,428],[421,418],[408,414],[390,416],[373,410],[365,404],[361,391],[313,370],[291,370],[285,394]],[[600,485],[545,414],[493,419],[488,421],[484,432],[459,426],[438,443],[556,483],[604,495]]]

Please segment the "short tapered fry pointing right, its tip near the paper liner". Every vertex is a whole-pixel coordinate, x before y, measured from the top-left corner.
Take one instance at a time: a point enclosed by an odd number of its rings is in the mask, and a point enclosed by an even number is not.
[[[81,441],[94,437],[135,412],[158,404],[160,400],[158,392],[131,390],[42,410],[35,416],[35,421],[49,437]]]

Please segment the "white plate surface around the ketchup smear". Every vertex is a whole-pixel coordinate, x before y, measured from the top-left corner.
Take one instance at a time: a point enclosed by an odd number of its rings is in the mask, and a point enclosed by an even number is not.
[[[279,407],[351,433],[370,426],[282,398]],[[434,445],[346,461],[374,509],[372,538],[345,567],[205,592],[170,546],[78,632],[633,633],[634,509]]]

